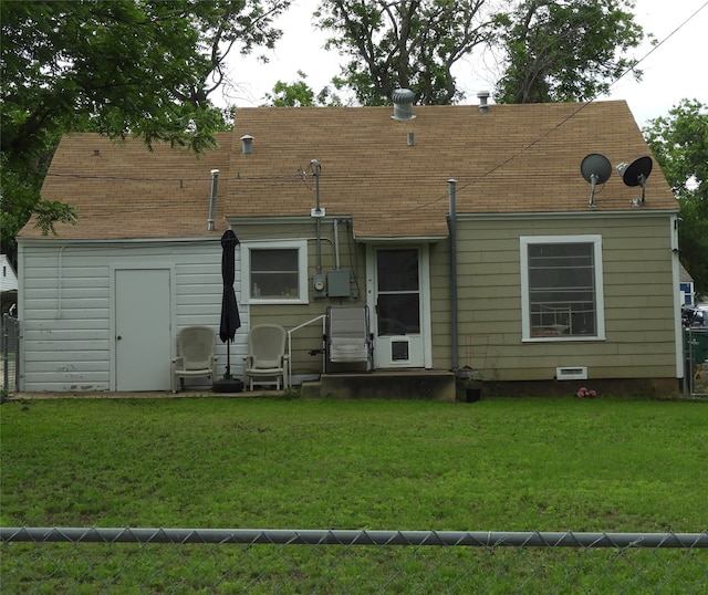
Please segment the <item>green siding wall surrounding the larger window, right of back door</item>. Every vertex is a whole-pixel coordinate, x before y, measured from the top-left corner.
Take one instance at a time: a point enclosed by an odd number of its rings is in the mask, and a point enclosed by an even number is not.
[[[586,233],[602,236],[606,340],[522,342],[519,238]],[[587,366],[591,379],[676,376],[668,217],[469,218],[457,237],[460,366],[497,380],[549,380],[559,366]],[[435,317],[449,320],[444,304]],[[434,341],[449,357],[449,336]]]

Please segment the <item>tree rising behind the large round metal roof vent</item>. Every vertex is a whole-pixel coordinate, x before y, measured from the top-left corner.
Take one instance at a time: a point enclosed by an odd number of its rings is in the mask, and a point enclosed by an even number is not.
[[[420,104],[462,97],[452,66],[491,40],[496,18],[487,0],[323,0],[317,24],[330,30],[326,49],[348,62],[336,86],[350,87],[362,105],[382,105],[396,88],[410,88]]]

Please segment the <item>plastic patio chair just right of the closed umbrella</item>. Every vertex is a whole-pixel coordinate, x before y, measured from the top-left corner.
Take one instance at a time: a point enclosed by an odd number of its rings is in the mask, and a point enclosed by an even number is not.
[[[285,355],[287,332],[278,324],[259,324],[248,334],[249,355],[243,358],[243,380],[254,385],[288,387],[290,358]]]

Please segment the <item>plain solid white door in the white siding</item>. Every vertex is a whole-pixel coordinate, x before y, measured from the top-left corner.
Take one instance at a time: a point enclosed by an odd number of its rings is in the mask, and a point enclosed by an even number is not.
[[[116,390],[169,390],[169,269],[115,271]]]

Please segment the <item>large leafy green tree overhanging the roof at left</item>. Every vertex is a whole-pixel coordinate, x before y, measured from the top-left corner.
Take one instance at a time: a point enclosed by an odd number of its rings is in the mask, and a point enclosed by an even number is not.
[[[2,250],[34,211],[71,220],[39,192],[64,133],[134,135],[196,152],[226,126],[209,101],[235,48],[272,48],[291,0],[0,2]]]

